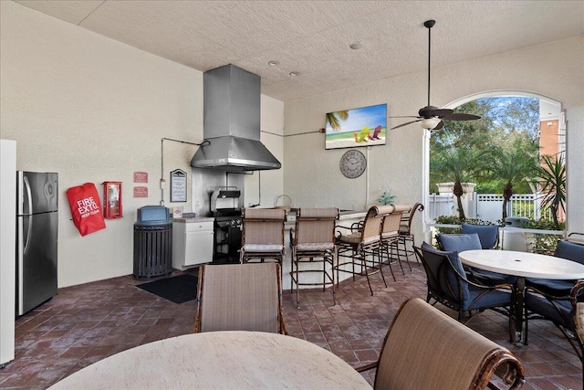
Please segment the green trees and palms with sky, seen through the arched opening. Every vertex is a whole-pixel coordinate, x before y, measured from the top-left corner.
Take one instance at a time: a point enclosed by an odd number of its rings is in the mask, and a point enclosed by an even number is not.
[[[481,116],[476,121],[445,121],[430,141],[430,190],[454,182],[459,217],[464,219],[462,184],[474,182],[479,193],[504,195],[506,205],[516,192],[531,193],[537,172],[539,100],[496,97],[469,101],[456,112]],[[460,194],[460,195],[457,195]]]

